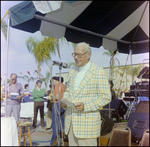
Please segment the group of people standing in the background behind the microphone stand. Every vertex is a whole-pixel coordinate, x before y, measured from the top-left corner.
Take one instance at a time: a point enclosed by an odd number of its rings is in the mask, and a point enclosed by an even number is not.
[[[2,80],[2,78],[1,78]],[[63,77],[61,77],[61,98],[63,98],[63,93],[66,90],[65,85],[63,84]],[[52,84],[53,82],[53,84]],[[53,99],[53,88],[54,87],[54,98]],[[55,113],[53,103],[56,103],[57,110],[59,110],[59,77],[53,77],[52,81],[50,80],[49,85],[50,90],[46,92],[45,88],[42,88],[42,81],[36,81],[36,88],[33,89],[32,96],[34,99],[34,116],[33,116],[33,124],[32,127],[35,129],[37,127],[37,115],[38,110],[40,110],[40,123],[41,127],[45,130],[53,129],[53,136],[51,139],[51,143],[53,143],[57,138],[56,125],[58,125],[58,111]],[[4,101],[5,98],[5,87],[1,86],[1,101]],[[12,93],[18,93],[19,96],[16,99],[11,99]],[[46,127],[44,126],[44,96],[47,96],[47,121]],[[21,110],[21,101],[23,103],[30,102],[31,92],[29,91],[29,85],[25,84],[24,89],[20,83],[17,83],[17,74],[12,73],[10,75],[10,83],[7,85],[7,107],[6,107],[6,115],[8,117],[15,117],[16,122],[19,121],[20,118],[20,110]],[[64,112],[65,110],[61,108],[61,122],[62,129],[64,129]],[[55,115],[57,115],[57,123],[55,122]]]

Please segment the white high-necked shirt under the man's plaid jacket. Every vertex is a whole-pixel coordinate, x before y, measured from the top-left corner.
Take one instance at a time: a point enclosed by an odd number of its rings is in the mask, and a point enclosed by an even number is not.
[[[90,68],[90,66],[91,66],[91,61],[89,61],[86,65],[78,68],[78,73],[75,79],[75,90],[79,88],[79,85],[81,81],[83,80],[85,73]]]

